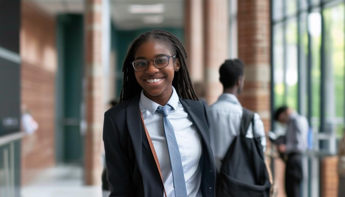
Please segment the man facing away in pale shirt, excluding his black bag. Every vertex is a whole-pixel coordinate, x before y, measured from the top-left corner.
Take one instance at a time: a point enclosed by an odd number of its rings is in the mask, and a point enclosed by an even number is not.
[[[233,139],[239,135],[240,123],[242,120],[243,107],[238,101],[237,96],[242,92],[244,87],[244,69],[245,65],[240,59],[225,60],[219,68],[220,82],[223,84],[223,94],[218,101],[208,108],[211,120],[210,140],[213,149],[213,155],[216,160],[217,172],[220,171],[221,161],[224,159]],[[266,136],[264,124],[260,116],[254,115],[254,129],[250,124],[247,137],[259,137],[263,152],[266,149]]]

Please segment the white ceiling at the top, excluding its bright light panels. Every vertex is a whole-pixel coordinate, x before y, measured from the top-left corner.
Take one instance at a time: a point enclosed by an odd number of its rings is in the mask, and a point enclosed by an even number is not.
[[[60,13],[83,13],[84,0],[30,0],[51,15]],[[163,4],[161,14],[131,14],[133,4]],[[110,0],[110,14],[117,29],[130,30],[140,28],[183,27],[184,0]],[[158,16],[159,15],[159,16]],[[161,23],[145,23],[144,18],[156,19]],[[147,19],[146,19],[147,20]]]

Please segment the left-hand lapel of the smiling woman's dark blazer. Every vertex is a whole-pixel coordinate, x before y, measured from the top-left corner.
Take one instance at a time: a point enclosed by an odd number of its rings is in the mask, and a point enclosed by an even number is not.
[[[142,174],[142,130],[141,130],[141,118],[139,109],[139,97],[140,94],[136,95],[131,99],[126,108],[126,121],[129,135],[132,139],[134,152],[138,162],[138,168]]]

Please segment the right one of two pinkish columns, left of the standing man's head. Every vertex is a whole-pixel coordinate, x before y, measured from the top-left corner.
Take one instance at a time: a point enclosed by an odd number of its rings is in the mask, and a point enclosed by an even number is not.
[[[228,1],[204,2],[206,100],[212,104],[223,92],[218,70],[228,54]]]

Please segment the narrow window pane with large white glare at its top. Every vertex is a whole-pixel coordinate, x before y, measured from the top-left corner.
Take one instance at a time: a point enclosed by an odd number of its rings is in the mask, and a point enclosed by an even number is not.
[[[311,126],[315,132],[318,132],[320,126],[320,88],[321,88],[321,70],[320,70],[320,55],[321,55],[321,14],[319,12],[312,12],[308,14],[308,31],[311,35],[311,101],[312,114]]]

